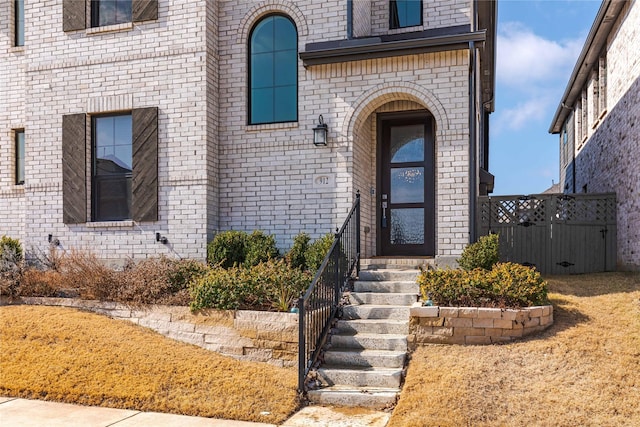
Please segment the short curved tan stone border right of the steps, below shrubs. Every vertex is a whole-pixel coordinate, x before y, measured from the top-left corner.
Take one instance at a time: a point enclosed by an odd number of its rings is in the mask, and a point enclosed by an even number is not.
[[[419,303],[418,303],[419,304]],[[521,309],[411,307],[409,345],[483,345],[513,341],[553,325],[553,306]]]

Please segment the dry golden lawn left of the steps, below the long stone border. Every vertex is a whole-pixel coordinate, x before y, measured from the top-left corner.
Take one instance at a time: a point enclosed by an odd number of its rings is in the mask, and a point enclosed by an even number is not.
[[[68,308],[0,307],[0,395],[279,423],[296,369],[240,362]]]

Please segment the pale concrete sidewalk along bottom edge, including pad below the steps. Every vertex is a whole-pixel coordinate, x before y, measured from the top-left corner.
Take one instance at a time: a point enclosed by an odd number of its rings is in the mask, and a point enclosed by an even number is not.
[[[365,409],[308,406],[283,427],[384,427],[390,414]],[[140,412],[0,397],[2,427],[275,427],[274,424]]]

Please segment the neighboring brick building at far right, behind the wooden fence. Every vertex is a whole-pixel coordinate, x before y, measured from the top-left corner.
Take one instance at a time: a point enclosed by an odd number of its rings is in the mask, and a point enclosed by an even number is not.
[[[565,193],[615,192],[618,266],[640,269],[640,4],[604,0],[549,132]]]

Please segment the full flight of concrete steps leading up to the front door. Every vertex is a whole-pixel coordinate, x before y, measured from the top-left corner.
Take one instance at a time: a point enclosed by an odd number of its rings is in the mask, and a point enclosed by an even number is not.
[[[402,261],[402,263],[399,263]],[[312,403],[385,408],[400,393],[407,354],[409,308],[418,300],[419,259],[365,262],[317,369],[322,384]]]

